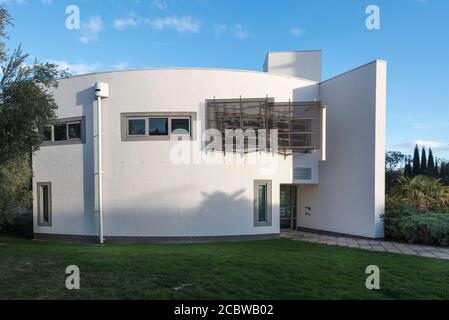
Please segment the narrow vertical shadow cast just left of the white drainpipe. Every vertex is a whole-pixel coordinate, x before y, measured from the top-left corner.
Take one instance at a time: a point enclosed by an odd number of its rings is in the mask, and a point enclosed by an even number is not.
[[[94,176],[94,100],[95,88],[89,87],[76,94],[76,106],[81,107],[86,117],[86,143],[83,144],[83,181],[84,181],[84,230],[95,234],[98,230],[97,215],[95,214],[95,176]]]

